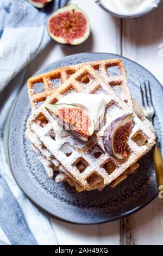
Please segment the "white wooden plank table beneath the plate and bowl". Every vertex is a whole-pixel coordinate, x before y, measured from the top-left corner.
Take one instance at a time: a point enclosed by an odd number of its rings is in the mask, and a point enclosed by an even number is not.
[[[122,20],[105,13],[93,0],[72,2],[89,15],[92,35],[77,47],[62,48],[52,41],[28,65],[27,77],[70,54],[108,52],[135,60],[163,84],[163,51],[159,54],[163,44],[163,4],[139,19]],[[156,198],[136,214],[112,223],[86,226],[52,218],[51,223],[59,245],[163,245],[163,200]]]

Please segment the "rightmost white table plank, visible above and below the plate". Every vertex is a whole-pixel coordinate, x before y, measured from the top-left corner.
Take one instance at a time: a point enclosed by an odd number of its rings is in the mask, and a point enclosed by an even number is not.
[[[163,4],[153,13],[139,19],[122,21],[122,55],[145,66],[163,84],[163,57],[159,46],[163,43]],[[126,218],[127,231],[121,234],[124,244],[163,244],[163,201],[151,204]],[[123,221],[121,221],[121,227]]]

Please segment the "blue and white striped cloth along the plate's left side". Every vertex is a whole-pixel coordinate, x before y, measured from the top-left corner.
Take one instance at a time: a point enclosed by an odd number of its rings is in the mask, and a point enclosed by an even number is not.
[[[61,6],[66,2],[62,0]],[[48,218],[16,184],[5,156],[3,133],[9,109],[22,86],[23,67],[50,41],[46,21],[58,4],[59,0],[54,0],[39,10],[27,0],[0,1],[0,245],[57,244]],[[12,90],[8,99],[6,86]]]

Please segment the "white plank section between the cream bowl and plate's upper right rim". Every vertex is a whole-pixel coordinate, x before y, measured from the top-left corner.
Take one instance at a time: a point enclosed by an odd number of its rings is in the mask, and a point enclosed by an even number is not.
[[[148,15],[123,20],[122,54],[145,66],[163,84],[163,4]]]

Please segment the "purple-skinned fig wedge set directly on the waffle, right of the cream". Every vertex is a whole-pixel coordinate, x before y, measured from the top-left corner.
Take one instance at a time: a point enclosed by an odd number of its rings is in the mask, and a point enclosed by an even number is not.
[[[133,114],[127,114],[112,121],[106,128],[103,136],[103,145],[108,154],[121,160],[127,157],[127,141],[132,123]]]

